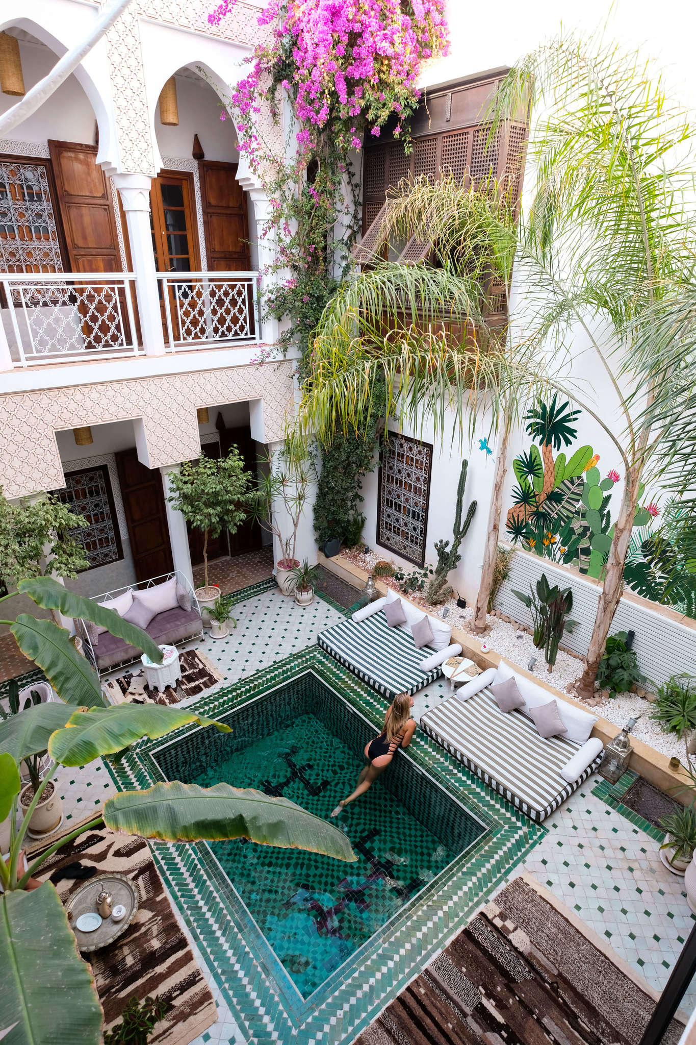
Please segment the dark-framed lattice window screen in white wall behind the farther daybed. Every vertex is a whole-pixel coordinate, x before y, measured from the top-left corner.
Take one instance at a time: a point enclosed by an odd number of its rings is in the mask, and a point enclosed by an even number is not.
[[[377,543],[422,566],[426,557],[433,448],[390,434],[382,447]]]

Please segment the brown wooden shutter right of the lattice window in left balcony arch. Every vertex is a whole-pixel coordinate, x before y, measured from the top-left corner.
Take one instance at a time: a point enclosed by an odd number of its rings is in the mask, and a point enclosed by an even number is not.
[[[116,216],[97,146],[49,141],[72,272],[121,272]]]

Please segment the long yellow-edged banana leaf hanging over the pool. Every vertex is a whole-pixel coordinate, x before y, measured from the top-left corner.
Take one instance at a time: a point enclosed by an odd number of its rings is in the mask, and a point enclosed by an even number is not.
[[[112,831],[164,841],[249,838],[337,860],[358,859],[347,837],[333,825],[288,798],[230,784],[202,788],[174,781],[147,791],[124,791],[104,803],[103,817]]]

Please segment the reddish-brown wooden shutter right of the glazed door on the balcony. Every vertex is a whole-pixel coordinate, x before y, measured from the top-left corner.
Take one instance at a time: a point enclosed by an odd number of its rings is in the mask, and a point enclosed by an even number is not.
[[[210,272],[248,272],[246,196],[237,181],[237,164],[199,160],[200,195]]]

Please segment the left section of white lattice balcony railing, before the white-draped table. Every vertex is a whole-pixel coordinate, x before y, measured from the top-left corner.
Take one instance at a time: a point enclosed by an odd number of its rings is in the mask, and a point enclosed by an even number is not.
[[[0,273],[15,366],[137,355],[133,273]]]

